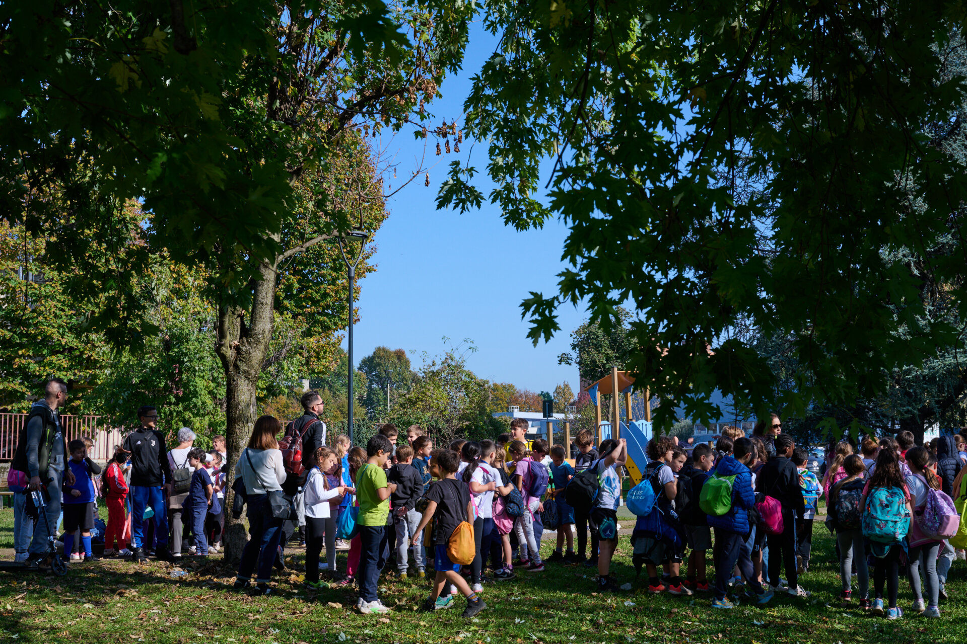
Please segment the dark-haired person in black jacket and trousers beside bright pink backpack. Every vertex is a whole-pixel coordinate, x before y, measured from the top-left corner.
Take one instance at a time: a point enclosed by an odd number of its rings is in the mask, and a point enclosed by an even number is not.
[[[806,512],[806,499],[799,486],[799,470],[789,460],[796,442],[789,434],[776,436],[776,456],[767,462],[756,477],[756,500],[759,494],[772,496],[782,505],[782,534],[769,535],[769,585],[773,592],[779,591],[780,564],[785,565],[786,579],[789,580],[789,594],[808,597],[809,594],[799,587],[799,572],[796,567],[796,524]],[[759,525],[759,528],[762,526]]]

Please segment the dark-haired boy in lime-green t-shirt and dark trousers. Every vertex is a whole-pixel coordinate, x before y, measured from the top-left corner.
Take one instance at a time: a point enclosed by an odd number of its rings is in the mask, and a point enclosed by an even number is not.
[[[390,514],[390,494],[396,491],[396,484],[387,482],[385,467],[392,454],[390,439],[383,434],[374,435],[366,443],[366,464],[356,473],[356,492],[360,501],[356,522],[363,546],[356,575],[360,585],[356,607],[364,615],[390,612],[376,597],[376,582],[390,556],[386,518]]]

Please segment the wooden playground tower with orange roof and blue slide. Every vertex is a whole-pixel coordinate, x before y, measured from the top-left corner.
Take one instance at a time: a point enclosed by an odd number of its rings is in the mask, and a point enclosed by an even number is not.
[[[595,406],[595,427],[598,428],[598,444],[605,438],[625,438],[628,441],[628,462],[626,467],[632,485],[641,482],[641,470],[648,463],[645,447],[652,439],[652,409],[649,405],[649,390],[645,389],[644,419],[634,420],[631,417],[631,389],[634,387],[634,377],[628,372],[611,368],[611,374],[594,382],[587,388],[591,402]],[[601,396],[608,394],[625,395],[625,418],[621,418],[621,399],[617,395],[611,396],[611,418],[617,421],[612,428],[608,421],[601,420]],[[622,422],[624,420],[624,422]],[[569,441],[570,443],[570,441]]]

